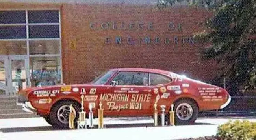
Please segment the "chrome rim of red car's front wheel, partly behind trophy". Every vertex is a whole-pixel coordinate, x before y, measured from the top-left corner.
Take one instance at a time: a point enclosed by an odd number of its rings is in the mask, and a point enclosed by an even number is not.
[[[76,110],[73,109],[74,115],[76,116]],[[58,120],[63,123],[63,124],[68,124],[69,123],[69,105],[63,105],[59,107],[58,112],[57,112],[57,118]]]

